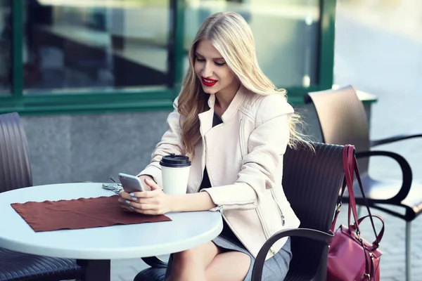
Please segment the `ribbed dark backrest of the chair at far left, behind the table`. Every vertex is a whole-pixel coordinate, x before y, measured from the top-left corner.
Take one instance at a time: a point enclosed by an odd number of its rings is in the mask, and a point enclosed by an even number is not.
[[[32,186],[27,139],[18,113],[0,115],[0,192]]]

